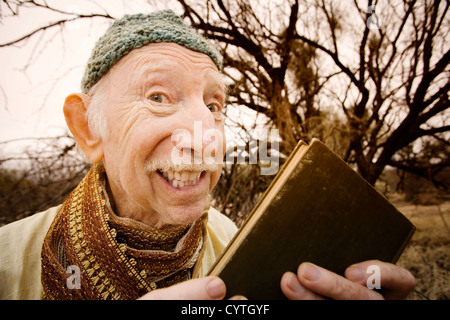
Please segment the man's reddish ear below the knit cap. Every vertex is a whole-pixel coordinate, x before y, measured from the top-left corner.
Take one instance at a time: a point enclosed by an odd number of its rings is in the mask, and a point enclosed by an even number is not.
[[[69,95],[64,102],[64,117],[75,140],[92,163],[103,159],[103,144],[100,136],[91,132],[87,118],[90,97],[84,93]]]

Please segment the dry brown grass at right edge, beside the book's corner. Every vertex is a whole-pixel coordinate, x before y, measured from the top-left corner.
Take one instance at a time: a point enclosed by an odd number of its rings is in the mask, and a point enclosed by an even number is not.
[[[450,201],[414,205],[391,199],[417,230],[398,261],[416,277],[408,299],[450,299]]]

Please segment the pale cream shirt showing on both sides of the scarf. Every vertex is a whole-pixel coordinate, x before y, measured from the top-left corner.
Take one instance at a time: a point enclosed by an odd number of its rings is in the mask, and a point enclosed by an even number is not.
[[[41,250],[58,207],[34,214],[0,228],[0,299],[42,298]],[[236,233],[235,224],[211,208],[208,213],[205,249],[194,270],[205,276]]]

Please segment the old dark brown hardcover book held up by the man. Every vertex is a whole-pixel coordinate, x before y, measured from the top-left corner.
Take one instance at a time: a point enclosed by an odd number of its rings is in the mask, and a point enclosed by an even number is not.
[[[209,271],[227,295],[282,299],[284,272],[309,261],[343,275],[395,263],[414,225],[319,140],[300,142]]]

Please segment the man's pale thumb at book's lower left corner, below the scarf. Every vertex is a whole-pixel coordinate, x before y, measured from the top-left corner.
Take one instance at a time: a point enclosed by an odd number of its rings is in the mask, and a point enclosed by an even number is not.
[[[218,277],[188,280],[177,285],[150,291],[141,300],[219,300],[225,297],[225,283]]]

